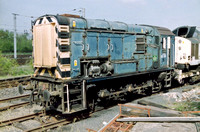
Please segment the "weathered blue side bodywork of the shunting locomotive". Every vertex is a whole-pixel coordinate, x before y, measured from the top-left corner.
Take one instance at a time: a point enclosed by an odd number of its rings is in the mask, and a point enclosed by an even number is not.
[[[110,56],[114,74],[174,65],[174,35],[163,34],[156,27],[82,18],[69,18],[69,22],[72,78],[81,74],[80,58],[87,57],[98,59]],[[73,22],[76,23],[75,27]],[[163,38],[167,43],[168,37],[171,40],[170,51],[163,49]],[[137,50],[142,38],[145,49]],[[74,61],[77,61],[77,66]]]

